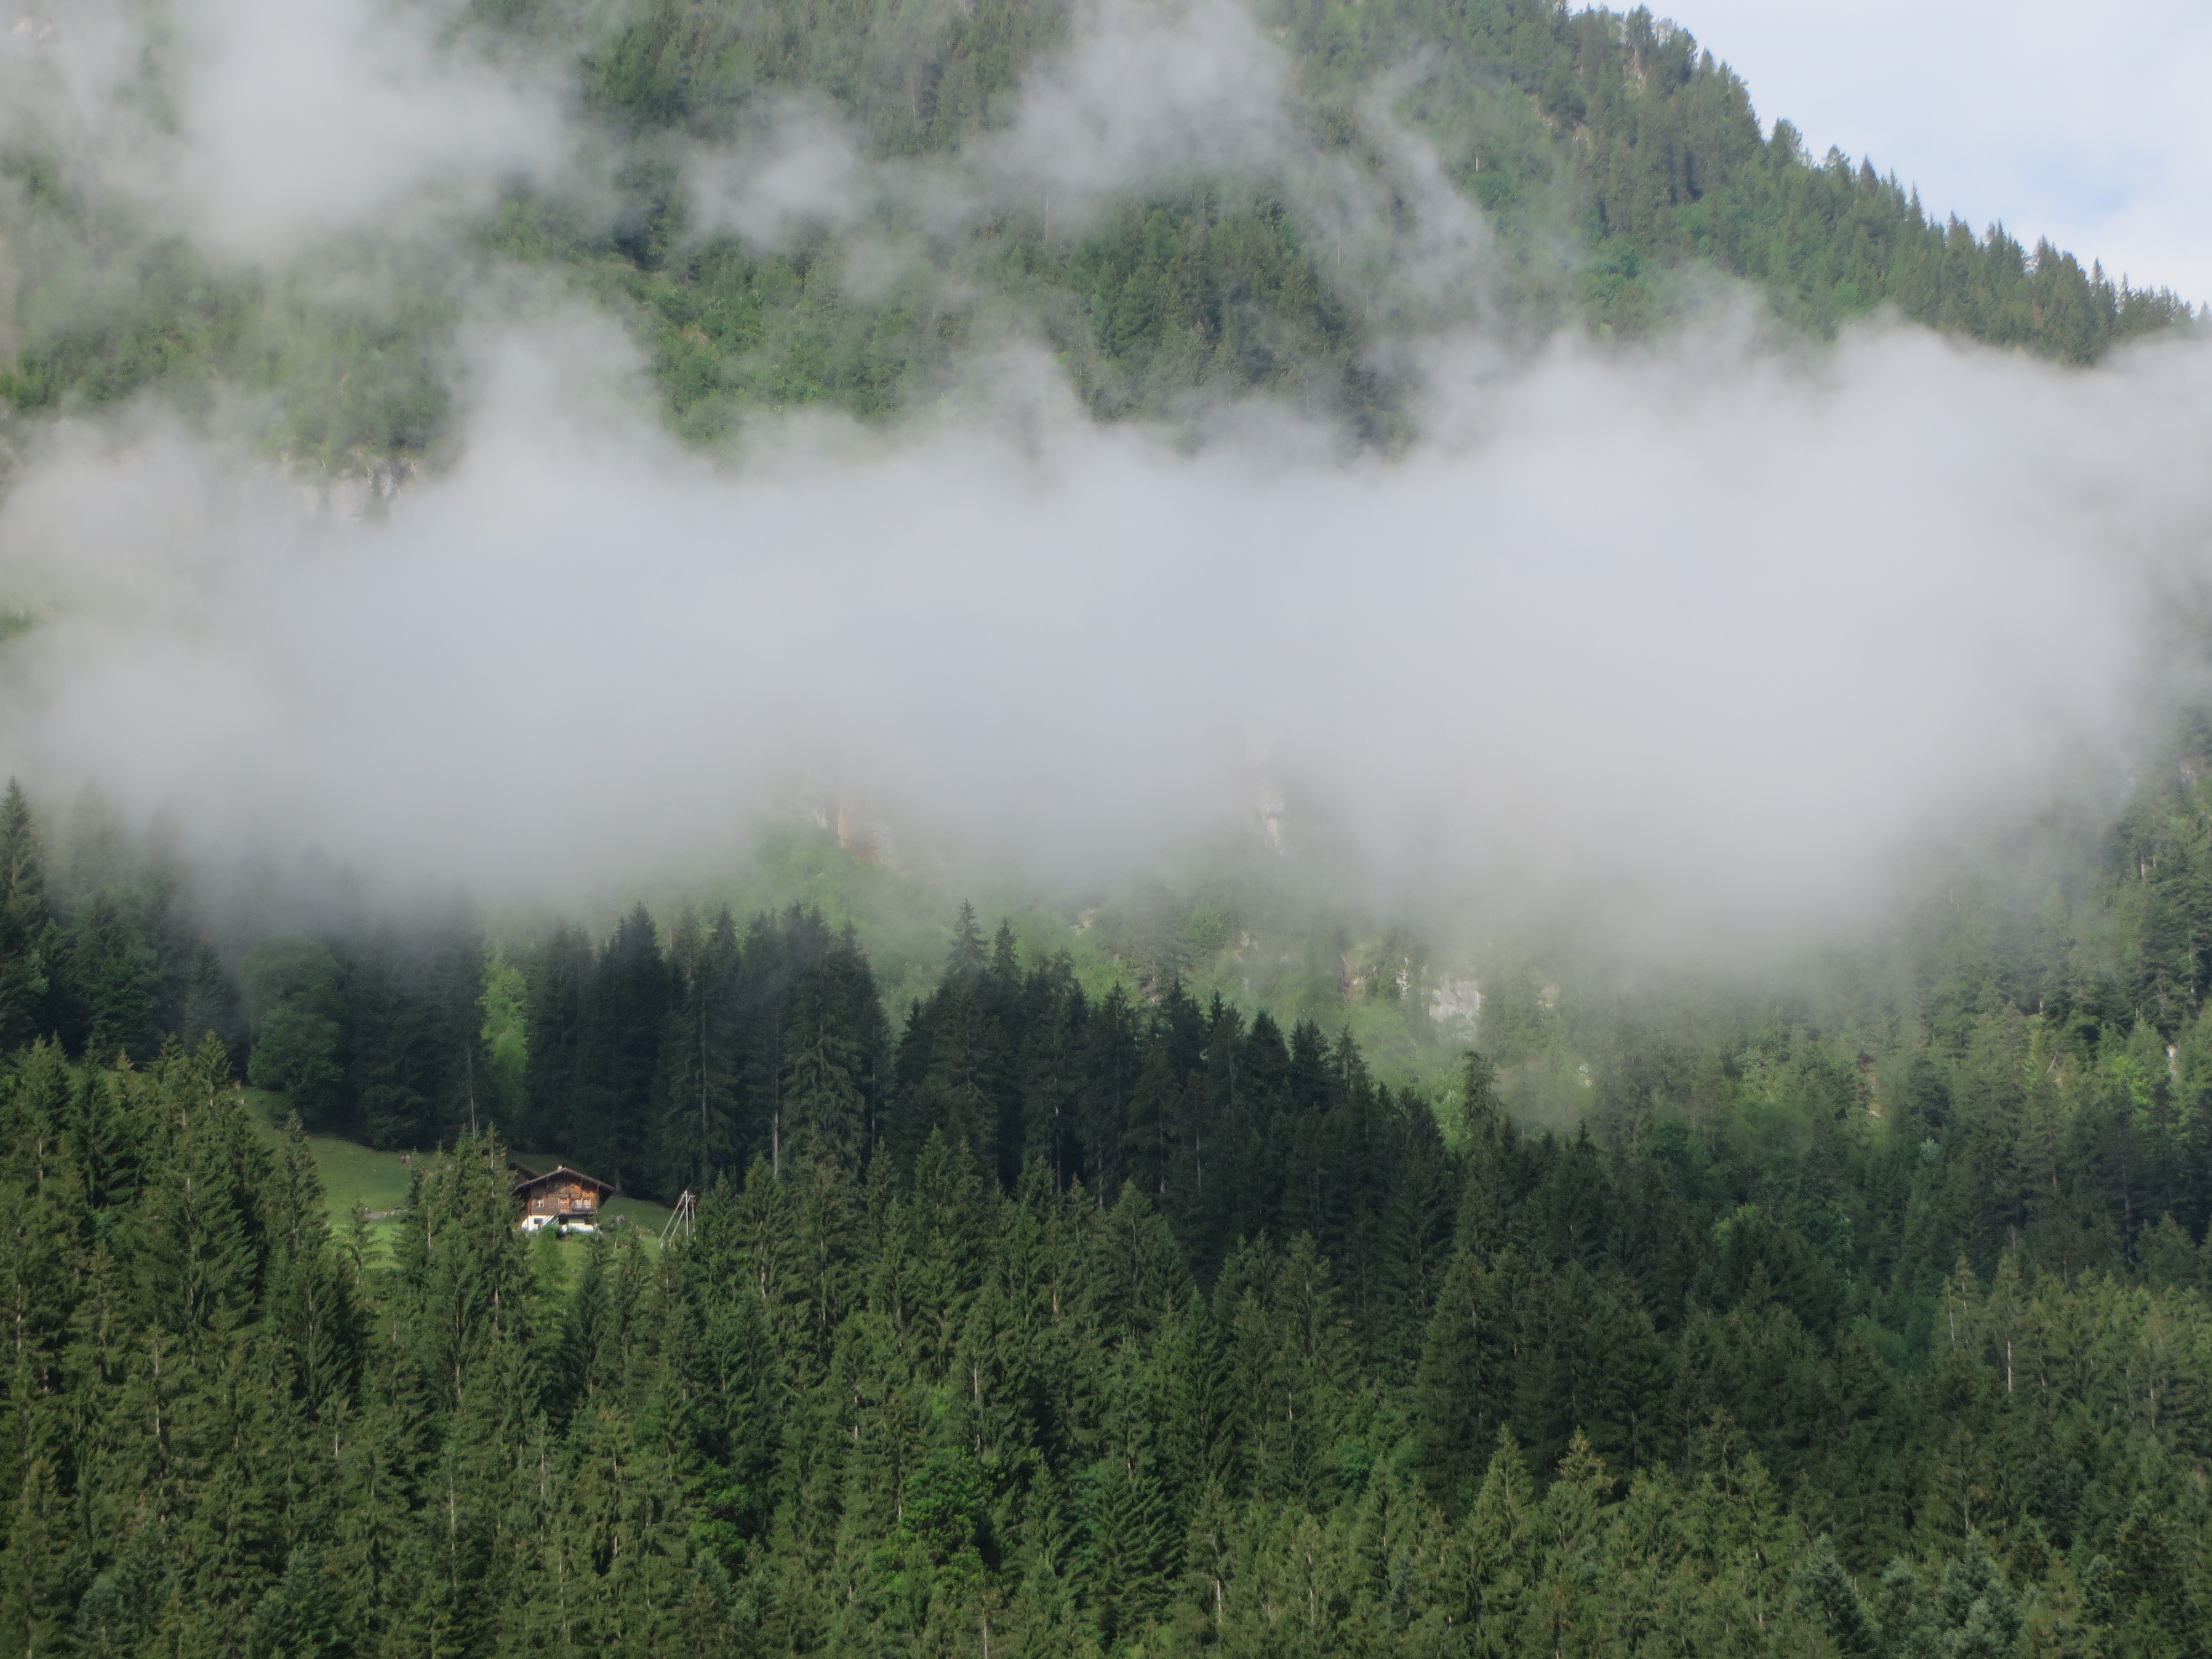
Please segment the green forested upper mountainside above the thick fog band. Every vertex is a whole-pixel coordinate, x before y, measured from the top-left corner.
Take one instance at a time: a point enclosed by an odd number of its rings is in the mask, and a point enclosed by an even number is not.
[[[265,409],[268,442],[294,460],[389,478],[445,453],[453,325],[480,283],[515,270],[613,307],[699,440],[761,409],[887,416],[980,354],[1033,343],[1097,416],[1270,394],[1394,442],[1407,343],[1475,323],[1522,343],[1648,334],[1714,279],[1816,334],[1896,305],[2068,363],[2190,316],[2166,290],[1947,217],[1867,161],[1805,155],[1650,11],[1261,0],[1259,22],[1285,53],[1296,139],[1152,168],[1073,226],[1053,223],[1048,181],[969,179],[980,206],[945,221],[914,206],[951,188],[927,168],[984,155],[1026,77],[1077,46],[1088,13],[1066,0],[480,2],[451,49],[557,75],[613,159],[604,188],[513,184],[440,259],[356,237],[241,268],[150,232],[20,139],[0,155],[0,400],[38,416],[155,389],[195,414]],[[838,208],[830,190],[790,234],[734,234],[695,199],[688,157],[763,142],[792,100],[849,135],[863,201]],[[1407,142],[1495,234],[1440,292],[1407,288],[1407,248],[1389,241],[1438,217]],[[1385,246],[1347,252],[1312,188],[1329,168]]]

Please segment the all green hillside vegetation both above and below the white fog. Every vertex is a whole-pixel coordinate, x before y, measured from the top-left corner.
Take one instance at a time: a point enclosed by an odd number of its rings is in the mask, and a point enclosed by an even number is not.
[[[1285,131],[1057,217],[991,148],[1084,51],[1057,0],[456,15],[597,184],[243,268],[24,139],[0,436],[144,396],[387,491],[453,453],[487,292],[617,316],[699,445],[891,420],[1009,345],[1102,420],[1267,396],[1389,449],[1453,330],[1752,294],[2086,365],[2192,316],[1803,155],[1644,11],[1261,0]],[[856,206],[712,228],[701,155],[825,131]],[[1296,834],[1000,920],[785,827],[714,891],[484,918],[312,856],[239,852],[226,900],[11,781],[0,1652],[2212,1655],[2212,726],[2177,726],[2110,818],[1666,973],[1356,916]],[[1743,814],[1756,761],[1714,783]],[[524,1237],[509,1148],[626,1225]]]

